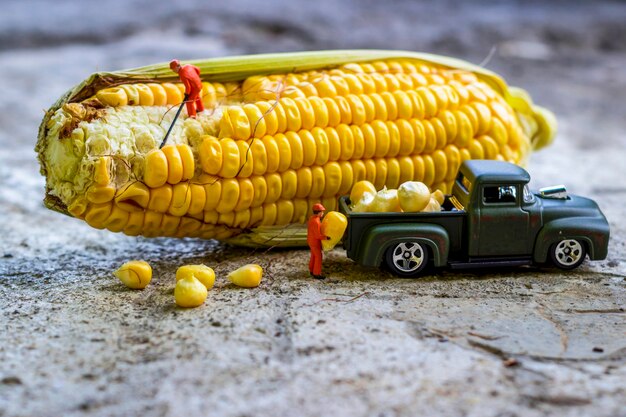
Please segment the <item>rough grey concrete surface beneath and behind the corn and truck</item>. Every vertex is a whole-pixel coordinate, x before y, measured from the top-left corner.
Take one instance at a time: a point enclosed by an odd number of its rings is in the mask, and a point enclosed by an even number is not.
[[[625,20],[623,2],[3,5],[0,416],[626,415]],[[91,72],[331,48],[490,57],[560,123],[529,161],[532,185],[594,198],[608,258],[408,280],[338,248],[321,282],[306,250],[131,238],[43,207],[38,124]],[[143,291],[112,276],[134,258],[154,269]],[[228,284],[249,262],[261,286]],[[188,263],[218,279],[185,310],[174,272]]]

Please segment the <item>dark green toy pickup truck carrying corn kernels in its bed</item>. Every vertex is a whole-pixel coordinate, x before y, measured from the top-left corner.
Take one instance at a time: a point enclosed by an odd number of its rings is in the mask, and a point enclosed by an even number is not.
[[[531,193],[530,176],[501,161],[465,161],[437,213],[354,213],[344,248],[350,259],[415,277],[432,261],[451,268],[544,264],[579,266],[586,255],[606,258],[609,225],[590,199],[562,186]]]

